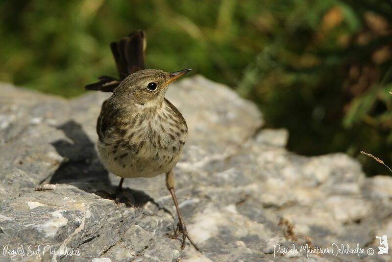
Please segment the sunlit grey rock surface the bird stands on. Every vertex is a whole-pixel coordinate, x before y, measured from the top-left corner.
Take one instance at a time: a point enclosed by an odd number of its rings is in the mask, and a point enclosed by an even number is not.
[[[176,194],[203,253],[181,250],[167,236],[176,216],[164,176],[125,180],[137,208],[96,192],[113,192],[119,182],[95,151],[107,97],[65,100],[0,84],[0,261],[392,259],[377,255],[375,238],[392,239],[391,177],[367,178],[344,154],[288,152],[287,131],[261,129],[255,105],[201,76],[167,94],[190,130],[175,168]],[[46,183],[56,189],[34,190]],[[306,244],[329,251],[307,254],[300,250]],[[358,245],[359,255],[344,254],[342,244]]]

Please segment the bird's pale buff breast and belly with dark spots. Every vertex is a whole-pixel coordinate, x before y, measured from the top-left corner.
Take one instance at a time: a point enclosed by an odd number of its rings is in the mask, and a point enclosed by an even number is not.
[[[188,130],[171,110],[138,113],[123,121],[98,145],[101,161],[121,177],[151,177],[170,171],[178,162]]]

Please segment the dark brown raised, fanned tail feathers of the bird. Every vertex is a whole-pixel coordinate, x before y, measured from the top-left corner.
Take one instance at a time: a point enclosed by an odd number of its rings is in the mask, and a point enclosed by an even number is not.
[[[120,79],[108,76],[99,77],[99,81],[88,84],[87,90],[113,92],[114,89],[130,74],[145,69],[146,38],[141,30],[129,34],[123,39],[110,44]]]

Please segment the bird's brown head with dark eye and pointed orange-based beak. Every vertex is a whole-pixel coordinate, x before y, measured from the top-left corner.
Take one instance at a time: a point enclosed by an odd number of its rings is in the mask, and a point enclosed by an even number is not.
[[[113,95],[122,101],[142,106],[154,106],[164,101],[170,83],[191,69],[168,73],[162,70],[145,69],[126,77],[114,90]]]

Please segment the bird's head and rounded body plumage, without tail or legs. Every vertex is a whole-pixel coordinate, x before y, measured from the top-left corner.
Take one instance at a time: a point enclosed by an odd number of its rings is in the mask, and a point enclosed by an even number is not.
[[[98,152],[110,172],[123,178],[153,177],[170,172],[178,162],[188,128],[165,93],[172,79],[184,72],[188,70],[137,71],[104,102],[97,122]],[[156,85],[153,91],[148,88],[151,83]]]

